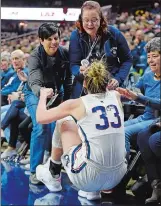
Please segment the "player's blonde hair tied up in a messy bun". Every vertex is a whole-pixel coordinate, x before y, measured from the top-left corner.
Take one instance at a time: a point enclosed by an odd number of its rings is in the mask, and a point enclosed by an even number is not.
[[[84,74],[86,89],[91,94],[104,93],[111,75],[103,61],[94,61]]]

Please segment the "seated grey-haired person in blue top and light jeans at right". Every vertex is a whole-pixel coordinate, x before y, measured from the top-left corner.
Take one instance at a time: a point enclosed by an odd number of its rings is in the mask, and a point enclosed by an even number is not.
[[[155,37],[146,45],[148,64],[151,71],[146,72],[136,84],[136,87],[144,92],[149,98],[160,99],[160,38]],[[140,130],[149,126],[155,119],[154,110],[145,107],[143,115],[125,122],[126,150],[129,155],[130,143],[136,142]]]

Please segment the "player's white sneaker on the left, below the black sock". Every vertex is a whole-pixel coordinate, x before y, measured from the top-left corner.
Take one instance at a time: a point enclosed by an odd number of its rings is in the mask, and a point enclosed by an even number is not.
[[[58,192],[62,190],[61,177],[53,178],[49,171],[50,159],[44,165],[39,165],[36,168],[36,177],[43,182],[51,192]]]

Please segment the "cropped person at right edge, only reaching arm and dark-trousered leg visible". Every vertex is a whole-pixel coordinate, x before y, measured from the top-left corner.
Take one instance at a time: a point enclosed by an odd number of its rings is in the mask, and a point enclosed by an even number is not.
[[[160,111],[160,99],[153,99],[144,95],[138,95],[130,90],[117,88],[117,91],[128,99],[135,100],[141,104]],[[161,133],[160,118],[154,120],[153,124],[141,130],[137,137],[137,143],[145,163],[148,181],[152,186],[151,198],[146,204],[157,204],[161,202]]]

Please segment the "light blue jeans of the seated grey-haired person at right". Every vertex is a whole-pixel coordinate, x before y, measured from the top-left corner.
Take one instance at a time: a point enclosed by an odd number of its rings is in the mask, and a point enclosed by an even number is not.
[[[127,156],[130,154],[131,142],[137,142],[137,135],[142,130],[152,124],[154,120],[143,120],[142,116],[138,116],[135,119],[127,120],[124,123],[125,126],[125,147]]]

